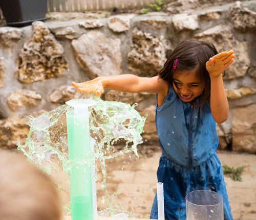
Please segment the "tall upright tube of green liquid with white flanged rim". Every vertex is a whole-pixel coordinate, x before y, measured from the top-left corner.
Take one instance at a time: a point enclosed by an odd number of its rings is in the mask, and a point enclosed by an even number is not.
[[[74,107],[67,114],[69,161],[73,161],[70,173],[70,210],[72,220],[95,220],[93,208],[91,166],[77,163],[87,158],[91,150],[88,106],[92,100],[70,100]]]

